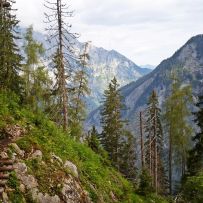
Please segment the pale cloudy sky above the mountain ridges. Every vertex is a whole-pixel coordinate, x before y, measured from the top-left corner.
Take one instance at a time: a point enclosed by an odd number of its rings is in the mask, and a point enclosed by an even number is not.
[[[55,0],[51,0],[55,1]],[[138,65],[158,65],[203,34],[203,0],[64,0],[79,40],[116,50]],[[20,25],[44,32],[44,0],[16,0]]]

